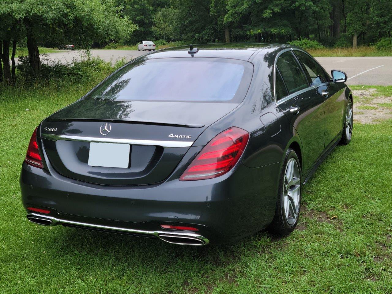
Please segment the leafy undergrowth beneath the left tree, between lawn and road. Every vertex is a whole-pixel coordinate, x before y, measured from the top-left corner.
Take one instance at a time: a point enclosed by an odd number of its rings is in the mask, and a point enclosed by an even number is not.
[[[20,56],[17,70],[18,83],[45,83],[48,81],[57,83],[88,82],[102,80],[114,70],[125,64],[125,59],[118,60],[114,65],[105,62],[101,58],[91,56],[89,51],[82,54],[79,60],[73,60],[69,64],[43,58],[41,70],[38,75],[33,74],[30,69],[28,56]]]

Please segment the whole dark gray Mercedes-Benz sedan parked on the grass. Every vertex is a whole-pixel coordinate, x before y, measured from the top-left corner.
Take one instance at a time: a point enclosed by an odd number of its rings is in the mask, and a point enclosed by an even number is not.
[[[289,45],[140,56],[35,129],[27,218],[183,245],[289,234],[301,186],[351,140],[346,80]]]

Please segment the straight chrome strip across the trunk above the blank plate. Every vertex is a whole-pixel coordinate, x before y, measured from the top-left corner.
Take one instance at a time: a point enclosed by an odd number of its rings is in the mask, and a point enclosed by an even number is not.
[[[104,143],[123,143],[131,145],[154,145],[162,147],[191,147],[193,142],[190,141],[159,141],[159,140],[137,140],[137,139],[114,139],[114,138],[96,138],[71,135],[42,134],[41,137],[47,140],[67,140],[83,142],[104,142]]]

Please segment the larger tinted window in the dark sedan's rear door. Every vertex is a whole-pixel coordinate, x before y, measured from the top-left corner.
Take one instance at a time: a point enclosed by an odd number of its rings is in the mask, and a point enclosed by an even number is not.
[[[282,53],[276,62],[289,94],[309,87],[308,81],[298,62],[290,51]]]

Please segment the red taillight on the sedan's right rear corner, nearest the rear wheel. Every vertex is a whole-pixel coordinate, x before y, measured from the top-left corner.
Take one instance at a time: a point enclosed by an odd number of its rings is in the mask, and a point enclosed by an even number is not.
[[[180,177],[180,181],[216,178],[238,162],[249,140],[249,133],[231,127],[215,136],[200,151]]]

